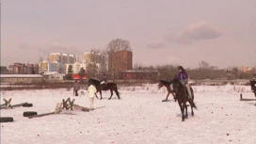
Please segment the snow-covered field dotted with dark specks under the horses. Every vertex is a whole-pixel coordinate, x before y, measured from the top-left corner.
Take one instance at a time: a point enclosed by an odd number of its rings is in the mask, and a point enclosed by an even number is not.
[[[1,123],[1,144],[255,144],[255,101],[249,86],[194,86],[198,110],[182,121],[179,105],[169,102],[165,88],[157,84],[122,87],[118,100],[95,100],[94,111],[68,111],[64,114],[28,119],[24,111],[38,114],[53,112],[56,103],[71,97],[75,104],[88,106],[88,94],[73,97],[67,89],[1,91],[11,104],[32,103],[32,107],[1,109],[1,117],[13,122]],[[99,95],[99,94],[98,94]]]

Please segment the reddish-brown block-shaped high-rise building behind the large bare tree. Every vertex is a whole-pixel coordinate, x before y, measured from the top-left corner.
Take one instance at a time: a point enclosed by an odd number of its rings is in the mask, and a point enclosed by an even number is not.
[[[118,74],[120,71],[133,69],[133,52],[122,50],[108,53],[108,71]]]

